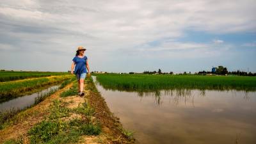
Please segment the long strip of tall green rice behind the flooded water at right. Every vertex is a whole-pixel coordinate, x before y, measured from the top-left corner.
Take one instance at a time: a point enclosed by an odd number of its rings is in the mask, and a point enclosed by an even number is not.
[[[256,77],[94,74],[106,89],[153,92],[172,89],[256,90]]]

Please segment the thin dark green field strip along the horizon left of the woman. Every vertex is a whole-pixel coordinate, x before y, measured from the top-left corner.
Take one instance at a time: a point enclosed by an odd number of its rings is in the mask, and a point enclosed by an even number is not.
[[[0,82],[14,81],[18,79],[28,79],[33,77],[48,77],[61,76],[68,72],[15,72],[15,71],[0,71]]]

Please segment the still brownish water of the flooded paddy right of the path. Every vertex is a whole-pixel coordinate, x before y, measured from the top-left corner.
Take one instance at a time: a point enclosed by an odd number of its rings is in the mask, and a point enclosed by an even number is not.
[[[141,143],[256,143],[256,93],[97,89]]]

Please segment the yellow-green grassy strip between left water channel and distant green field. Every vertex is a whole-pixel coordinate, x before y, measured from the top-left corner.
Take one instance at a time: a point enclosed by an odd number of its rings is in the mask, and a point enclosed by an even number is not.
[[[8,81],[0,83],[0,101],[12,99],[13,97],[20,97],[29,93],[36,92],[50,84],[61,83],[66,79],[74,76],[54,76],[54,77],[40,77],[35,79],[24,79],[19,81]]]

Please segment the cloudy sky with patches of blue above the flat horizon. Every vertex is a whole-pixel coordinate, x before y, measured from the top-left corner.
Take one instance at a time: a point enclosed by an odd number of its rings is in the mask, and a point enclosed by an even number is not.
[[[67,71],[79,45],[92,70],[256,72],[256,1],[0,2],[0,69]]]

